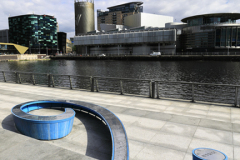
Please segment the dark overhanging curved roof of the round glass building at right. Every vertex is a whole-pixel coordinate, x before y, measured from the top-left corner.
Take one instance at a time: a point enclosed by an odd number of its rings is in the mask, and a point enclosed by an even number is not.
[[[187,23],[189,19],[200,18],[200,17],[229,17],[231,19],[237,20],[240,19],[240,13],[209,13],[201,14],[183,18],[181,21]]]

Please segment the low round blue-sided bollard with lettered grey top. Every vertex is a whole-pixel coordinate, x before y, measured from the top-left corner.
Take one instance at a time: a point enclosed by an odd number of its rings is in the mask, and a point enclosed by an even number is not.
[[[192,156],[193,160],[228,160],[224,153],[211,148],[196,148]]]

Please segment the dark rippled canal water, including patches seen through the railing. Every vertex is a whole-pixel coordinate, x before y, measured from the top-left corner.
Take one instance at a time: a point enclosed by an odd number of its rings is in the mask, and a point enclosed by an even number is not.
[[[12,61],[0,62],[0,71],[240,85],[240,62],[229,61]],[[112,86],[109,84],[110,82],[102,81],[100,87],[102,85],[103,90],[107,88],[106,91],[115,91],[119,82]],[[147,83],[144,85],[126,83],[126,85],[128,85],[124,89],[126,92],[143,95],[149,93]],[[80,86],[80,83],[76,83],[76,87],[80,88]],[[116,92],[119,92],[119,89]],[[189,100],[192,98],[191,86],[184,84],[174,86],[159,84],[159,92],[160,97]],[[236,93],[234,87],[203,85],[195,86],[194,92],[197,100],[231,104],[234,103]]]

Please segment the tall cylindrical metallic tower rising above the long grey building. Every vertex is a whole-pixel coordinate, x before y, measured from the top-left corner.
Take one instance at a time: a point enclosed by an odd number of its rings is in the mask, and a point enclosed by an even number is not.
[[[95,30],[94,1],[75,0],[75,35],[85,34]]]

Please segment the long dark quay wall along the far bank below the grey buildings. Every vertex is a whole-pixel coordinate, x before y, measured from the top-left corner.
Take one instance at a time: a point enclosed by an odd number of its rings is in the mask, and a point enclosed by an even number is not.
[[[122,61],[240,61],[240,55],[161,55],[161,56],[51,56],[51,60],[122,60]]]

